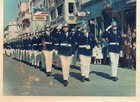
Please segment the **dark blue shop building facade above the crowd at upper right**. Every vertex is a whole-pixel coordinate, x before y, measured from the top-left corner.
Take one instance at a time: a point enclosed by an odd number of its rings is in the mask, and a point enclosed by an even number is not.
[[[124,33],[129,26],[132,30],[136,28],[136,0],[88,0],[81,4],[81,10],[90,11],[83,20],[95,35],[104,31],[113,20]]]

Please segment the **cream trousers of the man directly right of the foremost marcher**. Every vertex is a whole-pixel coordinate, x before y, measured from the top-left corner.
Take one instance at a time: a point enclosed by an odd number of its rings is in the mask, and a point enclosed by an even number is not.
[[[86,78],[89,77],[90,62],[91,62],[90,56],[80,55],[81,75],[85,76]]]

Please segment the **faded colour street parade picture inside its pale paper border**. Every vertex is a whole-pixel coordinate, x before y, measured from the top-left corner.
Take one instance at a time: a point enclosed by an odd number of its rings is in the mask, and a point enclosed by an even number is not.
[[[3,96],[136,97],[136,0],[3,0]]]

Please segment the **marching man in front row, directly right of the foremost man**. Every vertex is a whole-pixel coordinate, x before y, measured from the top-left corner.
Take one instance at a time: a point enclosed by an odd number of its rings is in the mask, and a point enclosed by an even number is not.
[[[82,28],[82,34],[78,39],[78,53],[80,57],[80,65],[81,65],[81,75],[82,82],[90,81],[89,73],[90,73],[90,62],[92,56],[92,49],[95,46],[94,35],[88,32],[87,26],[84,25]]]

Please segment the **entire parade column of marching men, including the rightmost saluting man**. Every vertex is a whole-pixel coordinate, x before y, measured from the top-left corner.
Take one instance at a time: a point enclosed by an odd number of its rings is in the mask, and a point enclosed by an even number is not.
[[[119,53],[122,46],[122,37],[117,30],[117,22],[113,21],[102,37],[109,39],[108,50],[112,67],[110,78],[117,81]],[[47,25],[41,31],[36,31],[35,34],[27,33],[18,36],[4,44],[4,51],[7,55],[9,53],[13,59],[39,68],[41,71],[45,69],[47,76],[53,74],[53,64],[59,65],[62,67],[63,84],[67,86],[70,65],[72,61],[78,59],[81,65],[81,81],[90,81],[90,63],[96,44],[93,34],[88,32],[87,25],[83,25],[80,30],[74,28],[70,30],[69,25],[64,23],[56,28]]]

